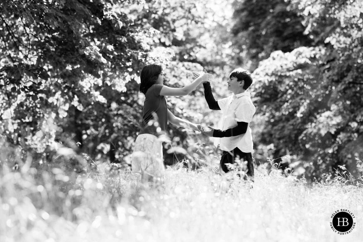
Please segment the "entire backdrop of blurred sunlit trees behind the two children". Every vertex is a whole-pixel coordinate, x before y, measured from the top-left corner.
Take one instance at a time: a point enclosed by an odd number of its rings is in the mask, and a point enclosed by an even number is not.
[[[362,1],[5,0],[0,16],[1,150],[19,151],[1,162],[129,162],[139,73],[154,62],[173,87],[207,69],[216,98],[229,95],[231,70],[253,71],[257,165],[319,179],[341,165],[354,173],[362,157]],[[176,116],[217,125],[203,87],[167,100]],[[171,125],[168,136],[168,165],[219,161],[206,136]]]

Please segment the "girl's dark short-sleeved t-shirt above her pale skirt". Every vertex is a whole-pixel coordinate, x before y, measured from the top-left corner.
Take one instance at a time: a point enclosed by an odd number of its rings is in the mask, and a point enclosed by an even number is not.
[[[145,94],[140,134],[164,134],[168,124],[168,107],[164,96],[160,95],[163,85],[152,85]]]

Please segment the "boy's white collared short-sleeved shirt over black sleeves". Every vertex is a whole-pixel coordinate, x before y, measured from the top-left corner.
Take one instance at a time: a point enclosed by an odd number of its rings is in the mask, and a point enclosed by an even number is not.
[[[248,123],[245,134],[231,137],[215,138],[214,145],[223,151],[231,151],[238,147],[242,152],[249,153],[253,151],[252,131],[250,122],[256,112],[250,98],[250,93],[245,91],[237,95],[231,95],[217,101],[223,115],[219,121],[219,130],[228,130],[237,126],[237,122]]]

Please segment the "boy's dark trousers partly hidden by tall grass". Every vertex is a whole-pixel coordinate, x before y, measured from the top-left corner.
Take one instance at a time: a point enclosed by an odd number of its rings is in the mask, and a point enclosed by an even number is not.
[[[252,159],[252,153],[245,153],[242,152],[237,147],[234,148],[232,151],[223,151],[221,161],[219,164],[219,173],[227,173],[229,172],[229,168],[226,164],[234,164],[235,159],[239,158],[240,161],[243,163],[244,161],[247,161],[247,167],[244,169],[244,171],[247,170],[246,175],[253,181],[254,180],[254,168],[253,168],[253,159]],[[242,169],[242,167],[239,166],[239,171]],[[246,179],[246,177],[244,177]]]

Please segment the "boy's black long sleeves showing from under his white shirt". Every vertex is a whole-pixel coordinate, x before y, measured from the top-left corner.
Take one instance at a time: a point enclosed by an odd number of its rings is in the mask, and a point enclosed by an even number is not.
[[[218,105],[218,102],[213,97],[212,87],[209,82],[203,83],[204,87],[204,97],[208,103],[209,109],[212,110],[221,110]],[[248,123],[246,122],[237,122],[237,126],[233,128],[229,128],[227,130],[214,130],[213,137],[223,138],[223,137],[231,137],[231,136],[238,136],[241,134],[245,134],[247,131]]]

